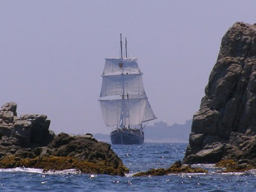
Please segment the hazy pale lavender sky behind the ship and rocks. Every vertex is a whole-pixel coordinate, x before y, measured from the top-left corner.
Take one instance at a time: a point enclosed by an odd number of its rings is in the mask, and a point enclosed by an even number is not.
[[[45,114],[56,133],[109,133],[99,104],[104,58],[139,58],[157,116],[183,124],[198,111],[222,36],[256,22],[256,1],[0,0],[0,105]]]

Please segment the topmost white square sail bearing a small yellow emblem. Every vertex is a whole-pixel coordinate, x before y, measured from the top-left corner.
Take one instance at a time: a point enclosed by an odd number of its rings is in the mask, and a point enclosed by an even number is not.
[[[137,60],[138,58],[106,58],[102,76],[141,74]]]

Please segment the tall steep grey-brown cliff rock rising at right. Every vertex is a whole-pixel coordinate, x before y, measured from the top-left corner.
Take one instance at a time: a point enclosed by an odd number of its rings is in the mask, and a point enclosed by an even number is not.
[[[256,24],[237,22],[220,54],[193,116],[184,163],[234,159],[256,163]]]

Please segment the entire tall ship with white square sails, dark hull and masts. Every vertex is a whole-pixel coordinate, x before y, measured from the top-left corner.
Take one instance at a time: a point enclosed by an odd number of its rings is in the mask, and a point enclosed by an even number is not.
[[[145,93],[138,58],[125,57],[120,34],[120,58],[106,58],[102,73],[100,108],[104,122],[112,127],[113,145],[142,145],[145,123],[156,119]]]

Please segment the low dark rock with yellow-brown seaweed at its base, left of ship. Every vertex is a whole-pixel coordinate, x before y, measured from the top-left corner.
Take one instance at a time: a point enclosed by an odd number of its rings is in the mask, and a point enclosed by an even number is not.
[[[75,168],[83,173],[124,175],[128,169],[107,143],[65,133],[54,137],[49,145],[36,148],[17,148],[4,155],[0,145],[0,168],[17,166],[64,170]]]

